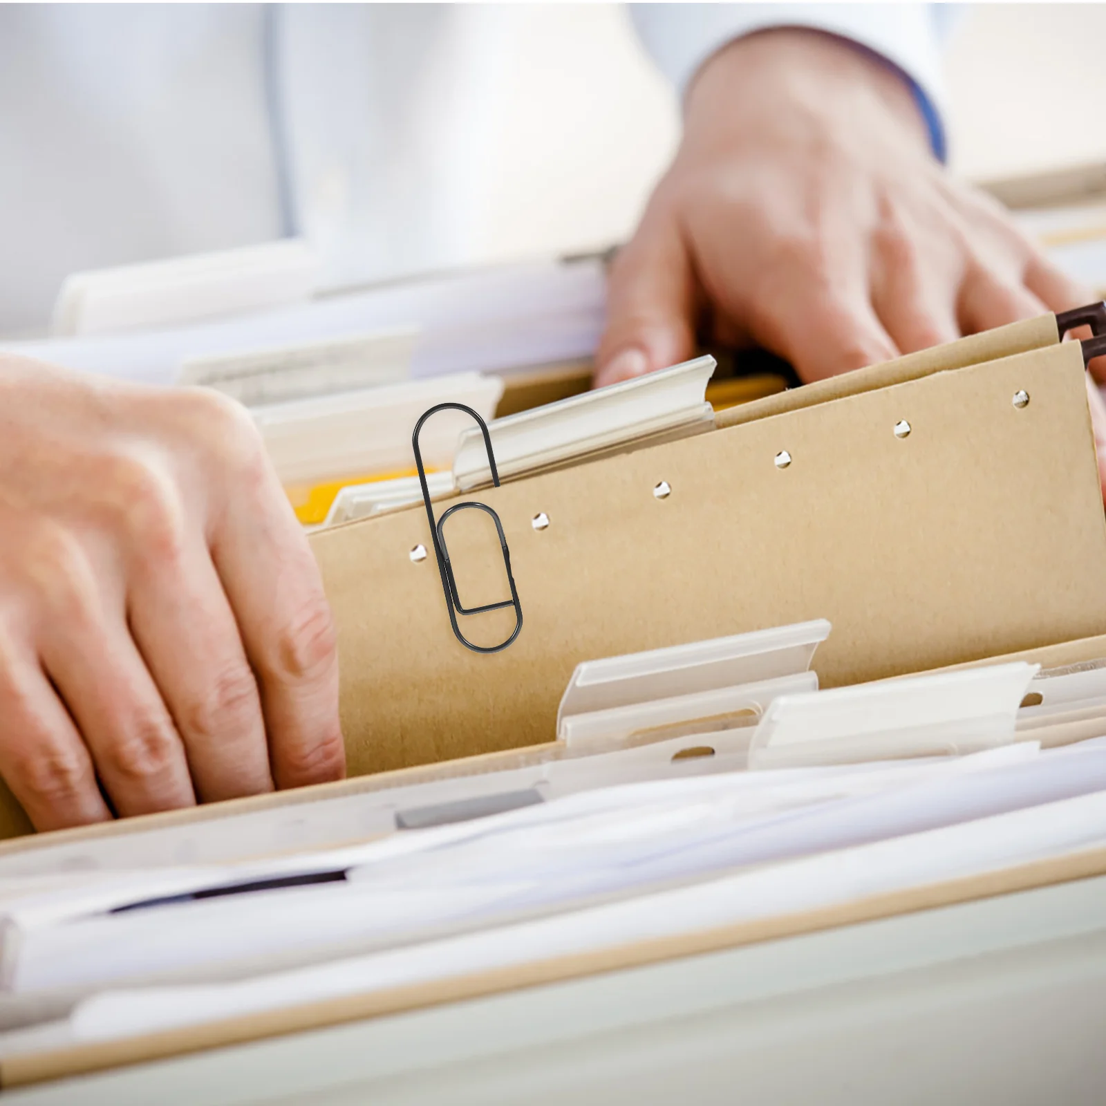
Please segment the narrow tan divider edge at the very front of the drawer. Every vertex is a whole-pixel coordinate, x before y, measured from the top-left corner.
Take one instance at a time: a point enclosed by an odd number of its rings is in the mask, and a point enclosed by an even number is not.
[[[943,880],[796,914],[634,941],[616,948],[531,961],[448,980],[284,1006],[143,1036],[9,1056],[0,1061],[0,1087],[25,1086],[524,988],[643,968],[1102,875],[1106,875],[1106,848],[1083,849],[1012,865],[984,875]]]

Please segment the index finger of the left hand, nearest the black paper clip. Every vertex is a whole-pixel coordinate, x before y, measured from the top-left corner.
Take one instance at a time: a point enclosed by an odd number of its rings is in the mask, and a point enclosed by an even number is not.
[[[211,535],[211,556],[258,680],[278,787],[341,779],[334,624],[319,566],[244,411],[223,428],[241,494]]]

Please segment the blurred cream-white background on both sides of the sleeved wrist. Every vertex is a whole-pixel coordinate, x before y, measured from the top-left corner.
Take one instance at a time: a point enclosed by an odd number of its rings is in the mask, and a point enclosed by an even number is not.
[[[952,167],[991,179],[1106,160],[1106,4],[957,7],[946,52]],[[675,97],[627,9],[518,6],[501,33],[510,95],[473,254],[624,238],[679,136]]]

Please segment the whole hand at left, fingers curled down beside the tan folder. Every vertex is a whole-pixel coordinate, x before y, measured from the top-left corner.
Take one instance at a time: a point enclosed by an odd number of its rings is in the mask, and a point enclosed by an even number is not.
[[[330,608],[244,409],[0,356],[0,775],[34,825],[344,770]]]

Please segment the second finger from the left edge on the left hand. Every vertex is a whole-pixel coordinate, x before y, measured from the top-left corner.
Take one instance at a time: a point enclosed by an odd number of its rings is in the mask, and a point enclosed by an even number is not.
[[[185,749],[127,629],[67,539],[40,541],[43,668],[92,753],[121,815],[196,802]]]

